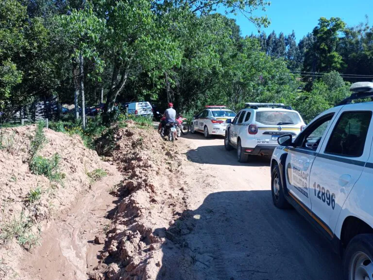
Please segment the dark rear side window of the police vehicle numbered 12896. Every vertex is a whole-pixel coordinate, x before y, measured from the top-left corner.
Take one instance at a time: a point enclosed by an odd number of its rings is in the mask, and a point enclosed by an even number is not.
[[[344,112],[330,135],[325,153],[358,157],[363,154],[372,112]]]

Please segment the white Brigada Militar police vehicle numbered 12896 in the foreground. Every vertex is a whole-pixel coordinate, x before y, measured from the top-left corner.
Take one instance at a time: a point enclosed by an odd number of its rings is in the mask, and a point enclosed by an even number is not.
[[[275,206],[301,212],[343,256],[343,279],[373,279],[372,82],[317,116],[292,140],[278,138],[271,159]]]

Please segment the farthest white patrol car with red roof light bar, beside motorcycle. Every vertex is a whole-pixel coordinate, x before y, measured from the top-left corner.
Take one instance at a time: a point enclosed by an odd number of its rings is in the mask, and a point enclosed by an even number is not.
[[[211,135],[225,135],[225,121],[235,117],[236,113],[225,106],[206,106],[206,109],[193,117],[190,132],[202,132],[205,138]]]

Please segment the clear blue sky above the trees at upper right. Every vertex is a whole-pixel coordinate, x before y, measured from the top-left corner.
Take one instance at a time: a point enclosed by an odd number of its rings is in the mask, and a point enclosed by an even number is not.
[[[223,10],[218,10],[223,14]],[[368,15],[370,26],[373,25],[373,0],[271,0],[267,16],[272,23],[269,28],[263,29],[267,35],[273,30],[285,35],[295,31],[296,40],[299,41],[318,24],[320,17],[340,17],[348,26],[365,22]],[[257,13],[257,15],[261,15]],[[257,33],[257,29],[241,14],[229,16],[237,20],[243,36]]]

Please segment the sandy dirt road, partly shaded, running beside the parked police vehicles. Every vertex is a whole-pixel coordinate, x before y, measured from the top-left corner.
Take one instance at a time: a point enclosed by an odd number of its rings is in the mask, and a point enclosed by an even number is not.
[[[322,236],[296,211],[273,206],[269,159],[238,163],[222,138],[202,134],[177,144],[190,161],[183,179],[195,227],[184,236],[184,259],[163,247],[167,274],[158,279],[341,279],[341,261]]]

